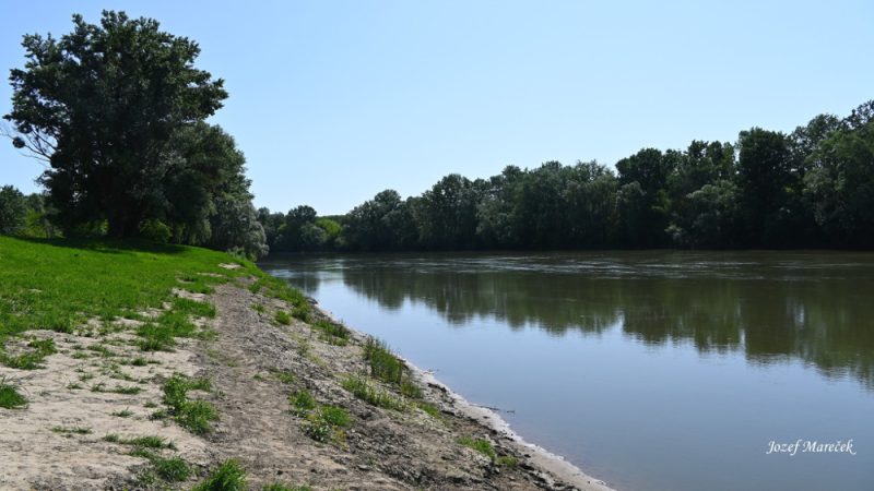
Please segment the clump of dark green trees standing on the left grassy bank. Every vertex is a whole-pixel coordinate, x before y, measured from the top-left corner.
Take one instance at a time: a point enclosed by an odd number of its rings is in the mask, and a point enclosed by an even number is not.
[[[267,253],[246,159],[205,122],[228,95],[194,68],[197,43],[104,11],[99,24],[73,15],[71,33],[25,35],[22,46],[27,61],[10,72],[5,133],[45,163],[45,192],[22,207],[21,193],[3,188],[1,232]],[[40,232],[35,220],[52,228]]]

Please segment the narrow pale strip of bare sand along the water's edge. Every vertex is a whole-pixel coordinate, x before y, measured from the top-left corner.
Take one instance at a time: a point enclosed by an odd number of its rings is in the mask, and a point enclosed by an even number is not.
[[[358,331],[355,326],[350,326],[340,321],[333,314],[333,312],[323,308],[318,300],[311,297],[309,297],[309,299],[312,308],[316,309],[319,314],[324,315],[333,322],[345,325],[355,337],[365,339],[368,336],[367,333]],[[609,487],[606,482],[586,474],[579,467],[565,459],[563,456],[554,454],[540,445],[525,441],[521,435],[512,430],[510,424],[504,418],[501,418],[500,415],[492,409],[475,405],[465,399],[464,396],[454,392],[450,386],[438,380],[434,373],[423,370],[411,360],[403,357],[403,355],[398,355],[398,358],[406,363],[406,366],[410,368],[410,371],[413,373],[413,376],[418,380],[420,383],[428,385],[446,394],[451,400],[452,409],[460,416],[469,418],[470,420],[474,420],[477,422],[477,424],[482,426],[486,430],[497,432],[512,442],[520,453],[529,456],[536,470],[552,476],[556,481],[562,481],[574,486],[580,491],[617,491]]]

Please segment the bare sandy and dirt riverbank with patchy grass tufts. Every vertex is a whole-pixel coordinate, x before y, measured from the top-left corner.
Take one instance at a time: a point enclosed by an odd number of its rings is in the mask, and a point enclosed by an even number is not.
[[[342,384],[366,373],[364,336],[353,332],[338,345],[311,324],[283,325],[275,314],[290,306],[246,286],[226,284],[198,297],[216,308],[215,319],[199,320],[214,335],[180,339],[169,354],[139,351],[131,322],[28,333],[55,339],[59,349],[40,370],[0,368],[29,399],[25,408],[0,409],[0,489],[190,489],[229,458],[247,470],[253,490],[273,482],[315,490],[609,489],[525,444],[497,415],[412,364],[423,399],[437,414],[412,402],[391,410],[356,398]],[[211,381],[211,391],[192,392],[217,411],[208,433],[193,434],[162,416],[161,387],[173,373]],[[134,386],[139,391],[116,391]],[[320,405],[349,411],[352,422],[340,438],[315,441],[306,418],[292,414],[288,397],[304,390]],[[180,482],[156,480],[146,458],[108,435],[165,439],[172,446],[155,452],[185,459],[192,472]],[[503,458],[460,445],[461,438],[486,440]]]

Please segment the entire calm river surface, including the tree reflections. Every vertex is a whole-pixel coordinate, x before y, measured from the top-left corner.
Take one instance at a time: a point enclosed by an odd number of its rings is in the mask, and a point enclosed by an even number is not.
[[[619,490],[874,490],[874,254],[272,256]],[[767,455],[853,440],[855,455]]]

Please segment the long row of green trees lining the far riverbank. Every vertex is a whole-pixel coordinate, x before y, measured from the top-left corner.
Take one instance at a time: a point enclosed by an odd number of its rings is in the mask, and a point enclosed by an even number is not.
[[[616,163],[442,178],[346,215],[258,211],[274,251],[874,247],[874,101],[791,134],[645,148]]]

